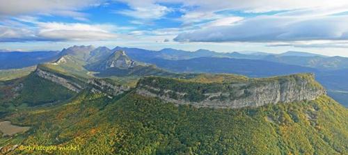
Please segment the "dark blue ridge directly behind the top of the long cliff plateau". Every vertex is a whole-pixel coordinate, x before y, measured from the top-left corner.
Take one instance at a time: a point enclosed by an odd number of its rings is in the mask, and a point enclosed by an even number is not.
[[[265,60],[237,58],[192,58],[188,60],[151,59],[147,63],[155,64],[172,72],[207,72],[243,74],[253,77],[277,76],[301,72],[317,72],[310,67],[287,65]]]

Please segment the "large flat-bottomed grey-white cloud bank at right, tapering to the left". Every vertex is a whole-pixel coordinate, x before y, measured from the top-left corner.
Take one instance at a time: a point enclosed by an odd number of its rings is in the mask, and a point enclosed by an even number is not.
[[[348,16],[315,18],[263,16],[230,26],[214,26],[181,33],[180,42],[276,42],[294,40],[347,40]]]

